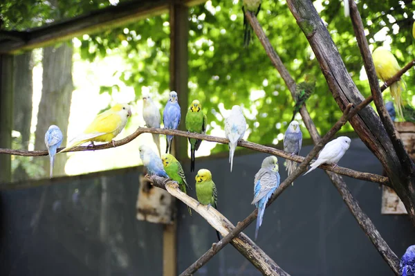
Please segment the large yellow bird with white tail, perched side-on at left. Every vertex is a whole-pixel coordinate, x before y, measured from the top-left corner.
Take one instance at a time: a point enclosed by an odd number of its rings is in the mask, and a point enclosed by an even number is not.
[[[84,142],[113,142],[118,134],[124,129],[128,118],[131,116],[131,109],[128,104],[116,104],[111,109],[98,114],[91,124],[86,127],[82,134],[73,138],[61,152],[68,151]]]

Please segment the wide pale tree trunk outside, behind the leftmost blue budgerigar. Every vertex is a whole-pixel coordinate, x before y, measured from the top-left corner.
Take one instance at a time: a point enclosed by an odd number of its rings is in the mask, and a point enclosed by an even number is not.
[[[66,145],[69,111],[73,91],[72,44],[62,44],[59,48],[44,48],[42,98],[37,114],[35,149],[45,149],[45,133],[50,125],[57,125],[64,134],[62,145]],[[66,154],[57,154],[54,175],[64,175]],[[42,158],[44,175],[49,174],[49,158]]]

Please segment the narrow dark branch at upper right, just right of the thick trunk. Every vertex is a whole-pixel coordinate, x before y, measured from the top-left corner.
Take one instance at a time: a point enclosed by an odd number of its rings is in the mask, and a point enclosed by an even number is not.
[[[382,98],[382,92],[380,91],[378,77],[376,76],[376,70],[374,66],[374,61],[371,57],[371,53],[369,50],[369,44],[367,44],[367,40],[365,37],[365,30],[363,29],[362,18],[360,17],[360,13],[358,11],[358,6],[356,6],[355,1],[349,1],[350,6],[350,17],[351,22],[353,24],[353,30],[356,35],[356,39],[358,40],[358,46],[360,49],[360,55],[362,55],[363,64],[365,65],[365,70],[367,73],[367,78],[369,80],[369,85],[371,87],[371,94],[374,98],[374,103],[376,109],[378,110],[378,114],[380,120],[382,120],[383,125],[391,139],[392,145],[394,145],[394,149],[396,154],[398,154],[398,158],[400,160],[400,164],[405,169],[405,173],[408,175],[414,175],[414,163],[412,162],[411,158],[409,158],[409,154],[407,153],[405,146],[403,145],[402,140],[400,140],[400,136],[394,122],[391,120],[385,104]],[[398,79],[399,80],[399,79]]]

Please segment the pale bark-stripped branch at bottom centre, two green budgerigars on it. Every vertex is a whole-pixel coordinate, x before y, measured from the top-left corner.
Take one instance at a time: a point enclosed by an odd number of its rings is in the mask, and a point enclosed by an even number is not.
[[[194,211],[198,212],[203,219],[216,230],[221,232],[225,237],[234,226],[232,223],[218,212],[215,208],[211,207],[209,210],[205,205],[198,205],[198,201],[192,199],[187,194],[181,192],[178,188],[178,184],[174,181],[168,181],[166,178],[160,176],[146,176],[147,180],[153,183],[154,186],[167,190],[169,194],[180,199],[186,205],[190,206]],[[237,248],[241,254],[246,257],[263,275],[282,275],[288,276],[282,268],[280,268],[273,259],[271,259],[266,253],[259,248],[246,234],[239,234],[239,237],[232,239],[232,246]]]

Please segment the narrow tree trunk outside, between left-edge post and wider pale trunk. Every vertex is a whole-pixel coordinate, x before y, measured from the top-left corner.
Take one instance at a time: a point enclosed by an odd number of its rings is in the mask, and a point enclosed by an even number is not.
[[[21,134],[19,149],[28,149],[30,123],[32,122],[33,96],[32,51],[15,56],[15,98],[13,100],[13,129]],[[28,174],[20,164],[13,172],[13,181],[28,179]]]

